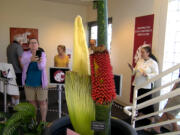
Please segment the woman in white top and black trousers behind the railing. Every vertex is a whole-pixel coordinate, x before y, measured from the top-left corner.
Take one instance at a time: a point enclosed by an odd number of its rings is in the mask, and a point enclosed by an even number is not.
[[[151,52],[150,46],[145,46],[141,49],[141,59],[138,60],[135,68],[128,64],[130,69],[132,70],[133,75],[135,75],[133,86],[138,86],[143,84],[147,80],[155,77],[159,74],[158,63],[156,57]],[[149,83],[143,88],[138,90],[138,96],[141,96],[152,90],[153,84]],[[152,95],[148,95],[144,98],[141,98],[137,101],[137,104],[143,103],[147,100],[152,99]],[[154,112],[153,105],[145,107],[143,109],[138,110],[139,115],[141,114],[149,114]]]

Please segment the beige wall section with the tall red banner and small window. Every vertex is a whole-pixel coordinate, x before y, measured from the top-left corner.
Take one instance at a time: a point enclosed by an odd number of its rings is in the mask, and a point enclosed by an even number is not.
[[[135,17],[155,14],[153,53],[162,61],[167,1],[109,0],[109,17],[113,19],[111,63],[113,72],[123,75],[122,96],[117,97],[117,101],[130,104],[131,72],[127,63],[132,63]],[[87,17],[88,21],[96,20],[96,10],[92,6],[88,8]]]

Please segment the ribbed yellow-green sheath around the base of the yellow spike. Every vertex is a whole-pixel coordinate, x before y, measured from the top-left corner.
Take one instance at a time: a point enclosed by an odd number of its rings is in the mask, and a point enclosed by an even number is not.
[[[95,106],[91,97],[90,76],[66,72],[65,79],[65,95],[73,128],[81,135],[93,135],[91,121],[95,120]]]

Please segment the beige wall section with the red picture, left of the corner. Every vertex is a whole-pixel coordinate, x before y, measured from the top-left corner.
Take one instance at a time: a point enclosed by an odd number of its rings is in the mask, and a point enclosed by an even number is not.
[[[53,66],[57,45],[72,49],[74,19],[86,22],[86,7],[42,0],[0,0],[0,61],[6,62],[9,28],[37,28],[40,46],[47,54],[47,67]]]

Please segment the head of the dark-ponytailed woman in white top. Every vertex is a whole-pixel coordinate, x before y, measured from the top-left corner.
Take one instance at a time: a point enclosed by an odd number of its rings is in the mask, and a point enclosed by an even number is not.
[[[141,57],[144,60],[147,60],[149,58],[152,58],[153,60],[155,60],[157,62],[156,57],[152,54],[152,50],[150,46],[145,46],[141,49]]]

